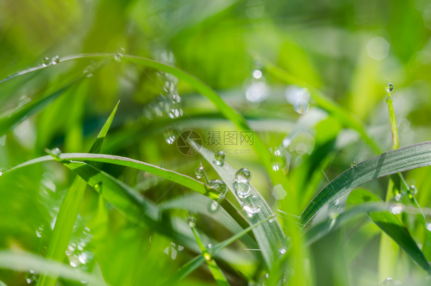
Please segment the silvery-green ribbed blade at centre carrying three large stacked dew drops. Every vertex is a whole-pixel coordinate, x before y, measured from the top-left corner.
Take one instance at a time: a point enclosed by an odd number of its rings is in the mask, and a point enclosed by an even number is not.
[[[224,162],[223,166],[219,166],[218,164],[214,163],[215,157],[212,152],[208,151],[203,146],[197,145],[193,141],[189,142],[193,146],[193,148],[198,150],[198,152],[205,158],[205,160],[209,164],[211,164],[212,168],[214,168],[214,170],[220,175],[220,177],[226,183],[229,189],[232,190],[232,193],[235,195],[240,205],[243,205],[243,199],[241,199],[237,195],[233,185],[233,183],[235,182],[235,173],[237,172],[237,170],[235,170],[226,162]],[[249,185],[249,196],[256,196],[258,198],[257,205],[261,209],[253,215],[247,215],[246,213],[250,224],[256,224],[257,222],[262,221],[268,217],[274,217],[274,213],[272,212],[271,208],[269,207],[265,199],[262,197],[262,195],[258,192],[258,190],[256,190],[255,187],[252,186],[252,184]],[[286,238],[283,231],[281,230],[280,225],[276,220],[272,220],[271,222],[268,221],[261,226],[256,227],[253,232],[255,234],[260,249],[262,249],[261,252],[264,256],[265,262],[267,263],[267,266],[271,268],[274,261],[276,261],[281,255],[280,252],[284,253],[287,249],[287,245],[285,244]]]

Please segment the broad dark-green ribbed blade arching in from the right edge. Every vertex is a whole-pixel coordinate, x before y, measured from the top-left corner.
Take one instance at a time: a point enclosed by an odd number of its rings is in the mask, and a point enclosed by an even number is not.
[[[431,141],[392,150],[367,159],[335,178],[307,206],[301,221],[308,224],[326,204],[362,183],[398,172],[431,165]]]

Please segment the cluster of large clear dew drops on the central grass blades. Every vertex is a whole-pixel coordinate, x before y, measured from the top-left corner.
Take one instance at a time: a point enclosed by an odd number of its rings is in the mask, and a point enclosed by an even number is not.
[[[214,156],[214,163],[223,166],[225,162],[225,153],[223,151],[219,151]],[[220,192],[221,196],[225,196],[228,191],[228,186],[225,182],[220,179],[209,180],[203,166],[200,166],[195,171],[195,176],[197,179],[204,177],[206,179],[206,183],[211,188]],[[260,205],[260,200],[255,195],[250,195],[250,180],[252,179],[252,173],[247,168],[238,169],[235,173],[234,180],[234,189],[236,195],[241,199],[241,206],[244,211],[249,215],[253,216],[254,214],[261,211],[262,207]],[[217,202],[212,202],[210,204],[210,210],[215,211],[218,208]]]

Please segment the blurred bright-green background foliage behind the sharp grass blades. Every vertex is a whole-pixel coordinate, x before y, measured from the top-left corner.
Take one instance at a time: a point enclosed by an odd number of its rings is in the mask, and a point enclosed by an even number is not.
[[[298,109],[295,96],[304,86],[284,82],[268,71],[264,62],[277,65],[285,74],[336,101],[369,127],[383,151],[389,151],[392,142],[385,102],[386,77],[395,86],[392,97],[400,146],[430,138],[430,36],[431,6],[424,0],[3,0],[0,78],[39,66],[45,57],[51,61],[56,55],[62,58],[81,53],[136,55],[175,65],[216,90],[246,117],[268,148],[282,151],[277,155],[277,166],[291,178],[303,210],[328,180],[349,168],[351,161],[360,162],[376,153],[356,131],[317,107],[307,91]],[[102,153],[193,177],[201,159],[183,156],[166,139],[178,129],[197,130],[205,139],[208,130],[235,127],[209,100],[181,81],[175,86],[181,98],[178,106],[166,107],[167,97],[162,90],[165,76],[119,57],[118,61],[70,61],[1,84],[3,117],[87,71],[84,80],[49,107],[0,137],[0,167],[8,169],[45,155],[45,148],[87,152],[120,100]],[[273,196],[256,154],[232,154],[226,160],[235,168],[247,166],[255,186],[277,209],[280,198]],[[209,177],[217,177],[204,166]],[[103,170],[156,203],[190,192],[151,174],[109,165]],[[427,174],[429,169],[422,168],[406,175],[408,183],[418,187],[422,207],[429,207],[431,196]],[[73,177],[59,163],[51,162],[0,180],[0,248],[44,255],[61,198]],[[383,195],[386,184],[387,179],[379,179],[366,187]],[[160,281],[193,257],[190,250],[180,251],[171,238],[137,227],[109,206],[109,223],[96,225],[97,204],[97,194],[88,189],[71,240],[75,245],[81,243],[84,250],[80,249],[77,259],[71,259],[71,265],[101,269],[110,284],[130,285],[135,280],[138,285]],[[187,212],[172,211],[170,215],[186,218]],[[310,283],[368,285],[378,281],[375,249],[379,231],[372,224],[360,222],[359,230],[336,231],[310,247]],[[197,225],[218,240],[229,237],[206,217]],[[86,227],[91,229],[91,237],[85,235]],[[420,235],[423,232],[418,231],[413,237],[424,243]],[[150,236],[151,251],[141,267]],[[426,243],[424,253],[429,260],[431,245]],[[357,249],[363,251],[358,253]],[[240,253],[242,256],[227,259],[236,266],[225,261],[221,267],[232,284],[247,284],[250,277],[259,283],[264,271],[249,262],[249,253]],[[411,271],[421,273],[404,256],[398,280],[414,276]],[[0,270],[0,280],[7,285],[35,283],[35,278],[29,273]],[[66,280],[61,283],[73,284]],[[215,284],[204,266],[182,283]]]

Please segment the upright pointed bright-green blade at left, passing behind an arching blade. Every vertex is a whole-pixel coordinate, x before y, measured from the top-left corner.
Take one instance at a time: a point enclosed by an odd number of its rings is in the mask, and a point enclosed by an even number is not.
[[[115,105],[114,109],[97,135],[96,141],[91,147],[90,152],[99,152],[103,139],[105,138],[106,133],[111,126],[112,120],[114,119],[119,103],[120,102]],[[87,182],[77,176],[69,190],[66,192],[66,195],[64,196],[60,205],[53,235],[48,247],[46,255],[48,259],[57,261],[62,261],[64,259],[65,251],[72,236],[73,227],[75,225],[76,218],[78,217],[79,209],[81,208],[81,203],[84,198],[86,187]],[[55,286],[56,283],[57,277],[42,274],[38,279],[37,285]]]

